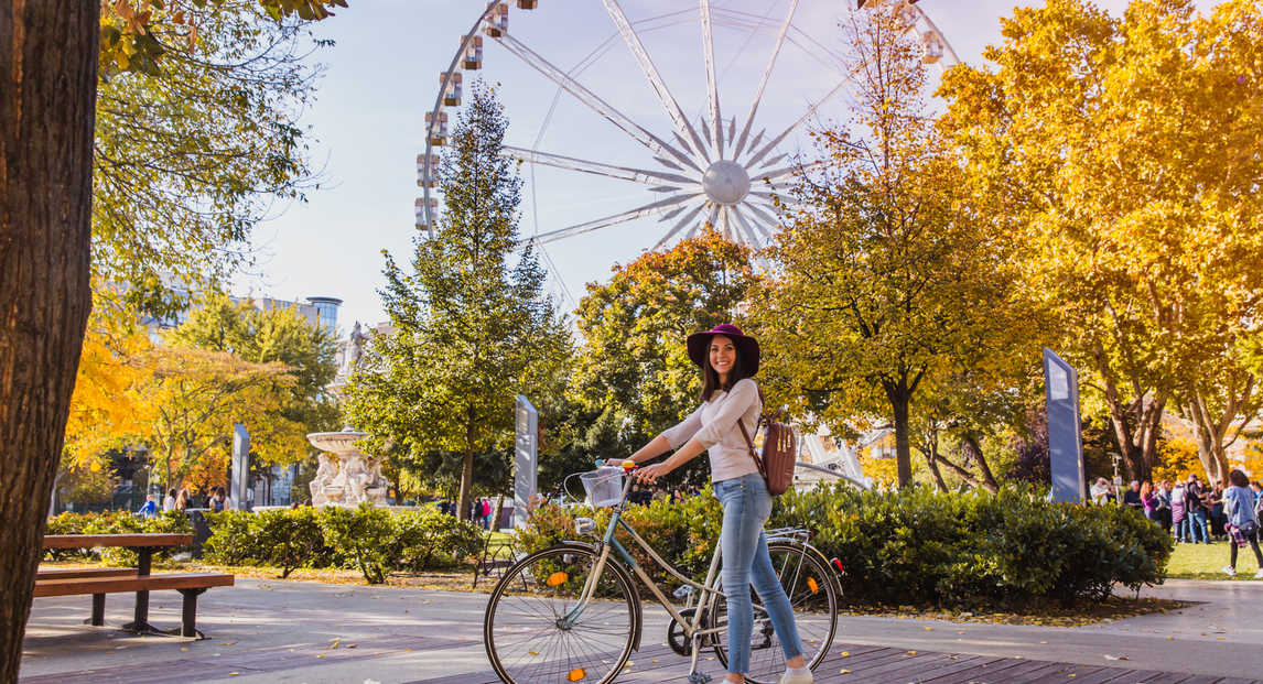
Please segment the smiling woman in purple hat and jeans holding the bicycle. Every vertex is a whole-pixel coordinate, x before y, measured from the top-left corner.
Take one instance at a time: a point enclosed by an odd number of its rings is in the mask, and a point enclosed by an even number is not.
[[[736,326],[724,323],[688,336],[687,346],[688,357],[702,370],[702,405],[632,454],[632,461],[639,463],[676,449],[671,458],[637,471],[637,477],[652,485],[709,452],[715,496],[724,505],[719,543],[729,622],[725,681],[744,681],[743,674],[750,669],[754,607],[749,587],[753,586],[786,654],[781,684],[811,684],[813,678],[802,655],[793,610],[772,568],[763,534],[763,524],[772,514],[772,496],[738,425],[740,422],[753,437],[763,409],[759,387],[751,380],[759,370],[759,343],[741,334]]]

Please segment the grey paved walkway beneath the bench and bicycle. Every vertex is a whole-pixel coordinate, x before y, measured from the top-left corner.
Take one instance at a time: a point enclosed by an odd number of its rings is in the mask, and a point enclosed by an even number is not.
[[[844,617],[817,681],[1263,680],[1263,582],[1173,581],[1144,594],[1199,604],[1076,628]],[[150,602],[155,625],[178,623],[178,593],[155,592]],[[188,641],[88,627],[87,597],[42,598],[21,681],[495,681],[481,641],[485,602],[477,593],[239,579],[200,598],[198,626],[212,639]],[[111,594],[106,623],[125,622],[130,608],[130,596]],[[621,680],[682,681],[687,661],[661,645],[664,612],[645,617],[644,647]],[[716,663],[707,666],[719,674]]]

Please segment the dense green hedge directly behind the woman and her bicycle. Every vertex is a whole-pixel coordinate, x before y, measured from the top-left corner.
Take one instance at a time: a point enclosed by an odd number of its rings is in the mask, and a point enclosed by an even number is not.
[[[520,533],[522,546],[573,539],[575,515],[595,517],[599,530],[609,520],[608,510],[544,506]],[[721,519],[710,490],[682,504],[654,501],[626,512],[663,558],[697,581],[705,578]],[[1050,504],[1012,488],[989,495],[827,486],[778,497],[768,526],[810,529],[812,544],[846,568],[844,596],[884,604],[1104,599],[1115,584],[1161,583],[1172,550],[1170,535],[1130,510]],[[672,583],[654,565],[645,569]]]

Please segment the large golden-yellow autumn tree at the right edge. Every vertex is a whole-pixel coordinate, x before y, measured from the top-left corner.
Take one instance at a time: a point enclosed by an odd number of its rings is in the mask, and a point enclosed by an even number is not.
[[[1022,284],[1052,310],[1058,351],[1104,401],[1133,478],[1157,464],[1177,409],[1221,477],[1257,406],[1230,353],[1257,334],[1263,290],[1263,23],[1229,0],[1086,0],[1015,9],[985,66],[940,93],[942,129],[990,220],[1019,239]]]

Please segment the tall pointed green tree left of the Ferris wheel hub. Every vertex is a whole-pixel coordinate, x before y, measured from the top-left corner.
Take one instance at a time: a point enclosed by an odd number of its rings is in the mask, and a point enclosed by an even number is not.
[[[509,453],[514,396],[560,398],[570,353],[543,268],[515,249],[522,180],[500,155],[506,126],[494,91],[475,85],[443,155],[434,236],[418,236],[410,273],[386,255],[395,329],[373,341],[346,403],[374,448],[458,459],[461,517],[475,457]]]

